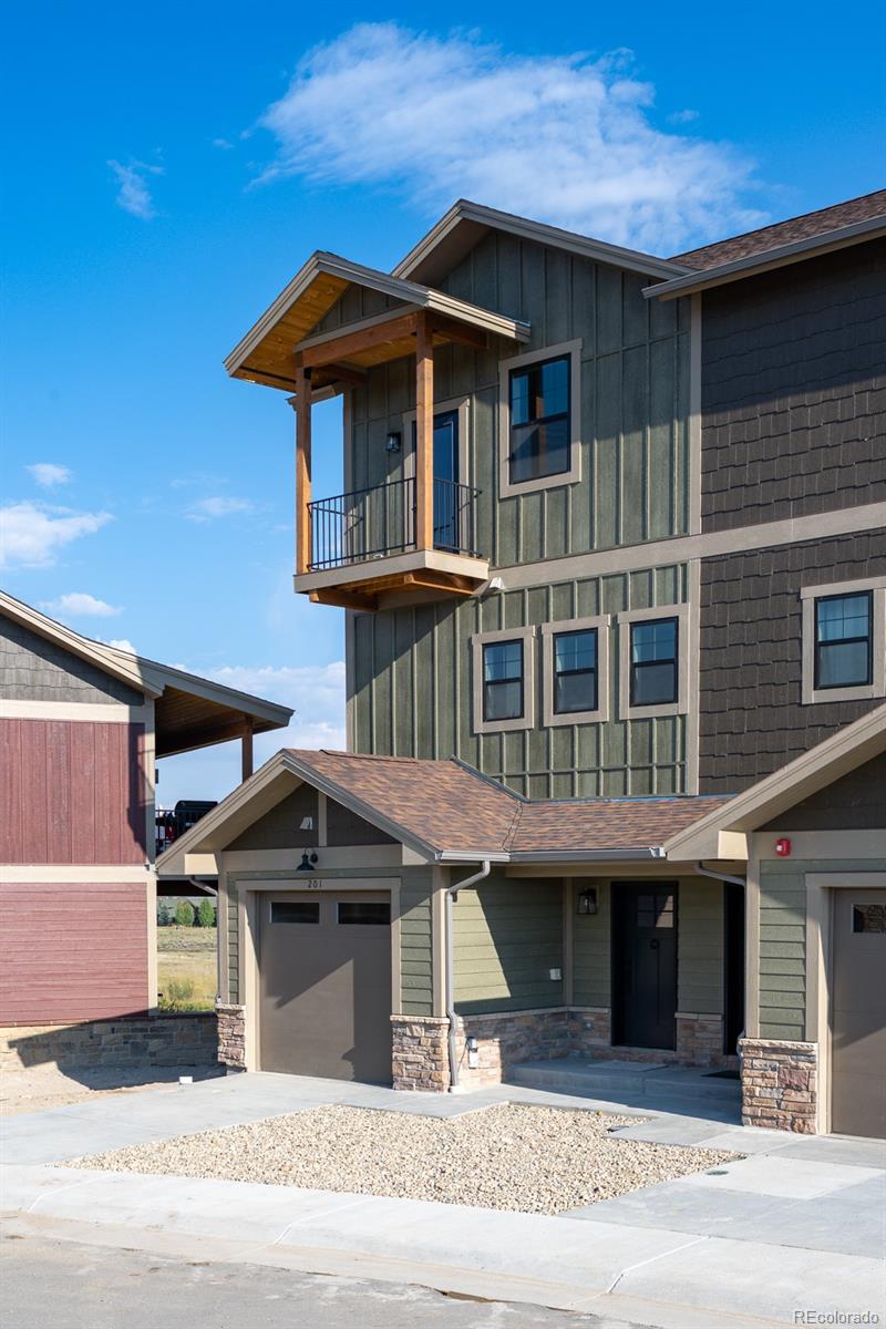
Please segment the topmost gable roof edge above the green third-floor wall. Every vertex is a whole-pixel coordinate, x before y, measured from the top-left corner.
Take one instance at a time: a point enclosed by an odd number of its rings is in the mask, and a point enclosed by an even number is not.
[[[482,203],[460,198],[397,263],[393,275],[416,282],[438,283],[489,231],[505,231],[521,239],[534,241],[537,245],[569,250],[582,258],[611,263],[648,276],[679,276],[688,267],[679,259],[656,258],[654,254],[643,254],[620,245],[608,245],[606,241],[592,239],[578,231],[566,231],[559,226],[534,222],[529,217],[515,217],[513,213],[502,213],[497,207],[485,207]]]

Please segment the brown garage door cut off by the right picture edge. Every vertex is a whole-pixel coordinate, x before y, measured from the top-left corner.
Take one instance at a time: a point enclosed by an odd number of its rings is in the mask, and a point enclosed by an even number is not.
[[[834,892],[830,1128],[886,1136],[886,890]]]

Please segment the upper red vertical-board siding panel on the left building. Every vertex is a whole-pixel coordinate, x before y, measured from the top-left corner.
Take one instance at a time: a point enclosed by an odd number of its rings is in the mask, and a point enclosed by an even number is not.
[[[0,720],[0,863],[143,863],[145,726]]]

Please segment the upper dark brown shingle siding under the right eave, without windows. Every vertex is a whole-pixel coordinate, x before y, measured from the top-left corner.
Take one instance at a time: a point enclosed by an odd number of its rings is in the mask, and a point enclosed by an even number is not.
[[[704,529],[886,498],[886,241],[708,292],[703,311]]]

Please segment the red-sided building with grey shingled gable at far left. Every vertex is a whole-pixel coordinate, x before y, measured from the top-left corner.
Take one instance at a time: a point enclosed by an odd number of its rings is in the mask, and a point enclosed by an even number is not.
[[[0,593],[0,1025],[157,1006],[154,762],[291,714]]]

